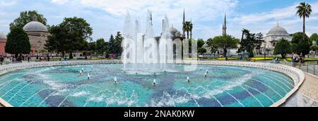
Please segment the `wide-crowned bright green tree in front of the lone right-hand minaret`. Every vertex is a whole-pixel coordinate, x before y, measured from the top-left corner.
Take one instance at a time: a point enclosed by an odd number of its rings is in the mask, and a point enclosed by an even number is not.
[[[235,39],[231,35],[226,35],[214,37],[211,41],[211,44],[218,46],[220,49],[223,49],[223,56],[225,58],[228,58],[226,56],[226,53],[228,53],[228,49],[237,48],[237,44],[239,42],[239,39]]]

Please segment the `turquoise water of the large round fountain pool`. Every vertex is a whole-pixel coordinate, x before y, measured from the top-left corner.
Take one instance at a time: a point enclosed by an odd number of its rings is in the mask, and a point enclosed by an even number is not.
[[[188,65],[166,65],[170,71],[158,68],[155,74],[136,74],[123,66],[67,65],[10,72],[0,76],[0,97],[16,107],[261,107],[271,106],[294,88],[287,75],[259,68],[197,65],[187,72]]]

